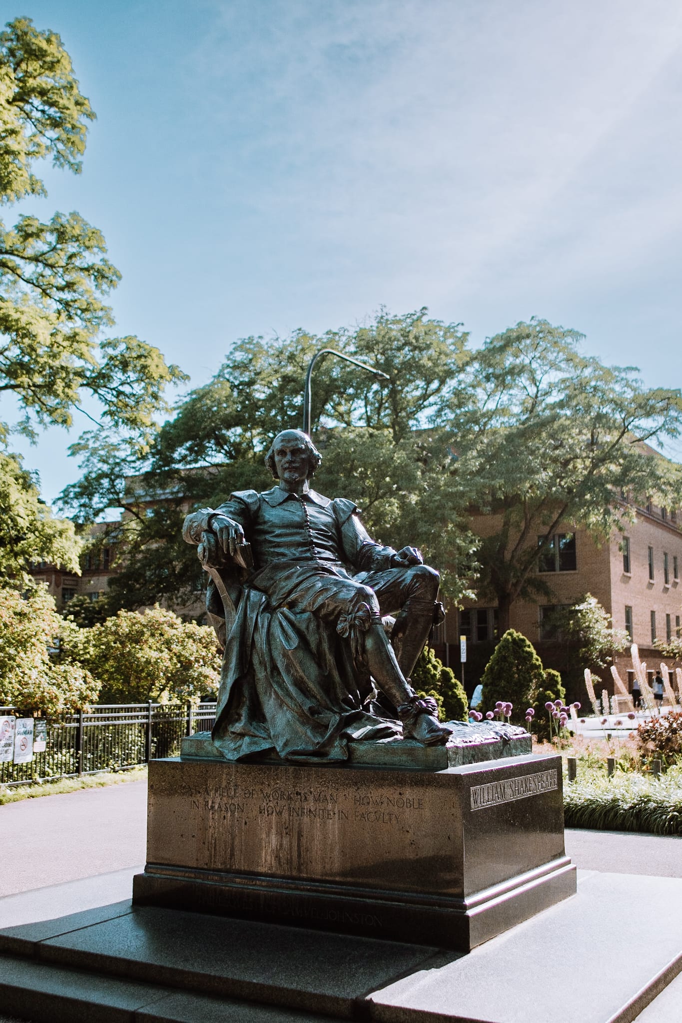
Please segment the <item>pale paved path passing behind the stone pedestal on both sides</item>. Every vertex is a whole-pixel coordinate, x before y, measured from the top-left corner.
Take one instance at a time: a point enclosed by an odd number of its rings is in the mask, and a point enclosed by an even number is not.
[[[146,782],[0,806],[0,897],[145,860]],[[569,830],[579,868],[682,877],[682,838]]]

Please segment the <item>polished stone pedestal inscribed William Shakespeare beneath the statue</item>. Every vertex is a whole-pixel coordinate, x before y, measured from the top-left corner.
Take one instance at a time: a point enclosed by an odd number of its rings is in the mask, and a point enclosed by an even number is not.
[[[149,764],[137,904],[468,950],[575,891],[558,756]]]

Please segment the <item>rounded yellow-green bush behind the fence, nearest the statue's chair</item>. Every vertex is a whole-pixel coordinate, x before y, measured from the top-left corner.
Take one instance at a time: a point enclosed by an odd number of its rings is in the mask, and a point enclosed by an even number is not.
[[[64,660],[86,668],[103,703],[215,697],[220,656],[213,629],[183,622],[160,607],[120,611],[92,628],[76,629]]]

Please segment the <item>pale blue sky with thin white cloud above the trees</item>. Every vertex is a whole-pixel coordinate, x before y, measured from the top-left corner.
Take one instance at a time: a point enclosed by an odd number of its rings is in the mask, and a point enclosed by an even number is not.
[[[474,343],[544,316],[682,385],[678,0],[2,9],[61,35],[98,116],[83,174],[48,171],[20,209],[104,232],[116,332],[192,385],[239,337],[380,305],[426,305]],[[87,427],[22,445],[48,499]]]

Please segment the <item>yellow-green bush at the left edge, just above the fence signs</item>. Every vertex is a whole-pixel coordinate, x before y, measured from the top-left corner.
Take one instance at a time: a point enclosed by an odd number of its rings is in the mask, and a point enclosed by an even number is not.
[[[75,630],[57,614],[45,587],[26,596],[0,588],[0,705],[53,715],[93,703],[99,684],[87,669],[57,664],[49,655]]]

